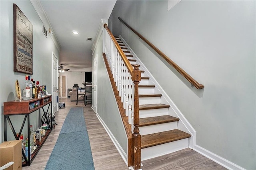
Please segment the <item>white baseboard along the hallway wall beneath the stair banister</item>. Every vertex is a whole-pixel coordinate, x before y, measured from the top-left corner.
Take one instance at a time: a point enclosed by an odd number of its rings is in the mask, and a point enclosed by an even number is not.
[[[119,145],[118,141],[116,140],[116,138],[114,137],[114,135],[111,133],[111,131],[108,129],[107,125],[104,123],[104,121],[101,119],[101,117],[98,115],[98,113],[96,113],[96,116],[98,117],[100,123],[102,124],[102,126],[104,127],[104,129],[106,130],[106,132],[108,133],[108,136],[110,137],[111,141],[114,143],[116,149],[118,150],[119,154],[121,155],[121,157],[123,158],[126,166],[128,166],[128,156],[127,154],[124,152],[124,150],[122,149],[122,147]],[[128,139],[127,139],[128,140]]]

